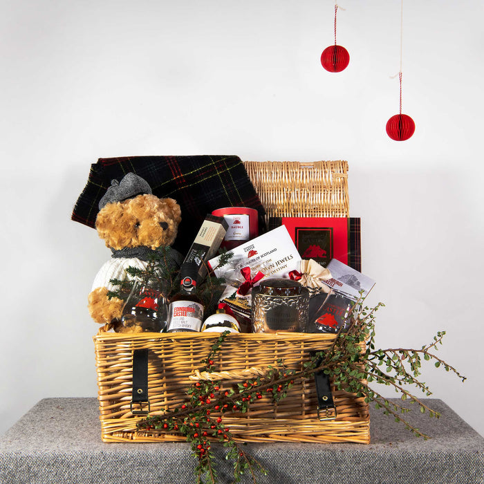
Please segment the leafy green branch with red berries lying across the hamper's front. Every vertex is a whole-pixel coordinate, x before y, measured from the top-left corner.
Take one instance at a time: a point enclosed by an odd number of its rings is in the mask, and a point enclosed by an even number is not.
[[[435,354],[438,346],[443,344],[444,331],[438,332],[430,344],[420,349],[376,348],[375,314],[382,306],[384,304],[380,303],[374,308],[363,307],[362,299],[359,299],[353,306],[346,332],[336,335],[331,348],[312,355],[304,363],[303,370],[287,369],[283,361],[278,360],[277,366],[268,366],[263,374],[241,380],[230,389],[222,389],[220,380],[198,380],[187,389],[189,400],[180,408],[141,420],[138,422],[138,429],[183,434],[187,442],[191,443],[198,461],[195,468],[197,483],[216,483],[216,463],[211,442],[221,443],[227,448],[225,458],[233,463],[235,482],[240,480],[244,472],[248,472],[255,483],[257,472],[266,474],[266,471],[244,450],[243,445],[234,440],[230,428],[223,422],[225,413],[247,412],[251,402],[263,395],[270,395],[275,404],[285,398],[295,381],[307,379],[317,371],[324,371],[337,390],[354,393],[357,397],[364,398],[367,403],[374,402],[376,409],[382,409],[385,415],[393,416],[396,422],[402,422],[416,436],[429,438],[404,418],[404,414],[410,411],[409,408],[390,402],[371,388],[370,384],[393,387],[402,400],[416,403],[422,413],[428,412],[430,417],[438,418],[440,415],[437,411],[429,408],[408,389],[415,387],[426,396],[431,395],[428,385],[418,380],[422,362],[433,361],[436,367],[443,367],[462,381],[466,378]],[[218,337],[210,353],[201,362],[201,375],[212,372],[214,357],[223,348],[227,334],[225,332]],[[212,416],[212,412],[218,417]]]

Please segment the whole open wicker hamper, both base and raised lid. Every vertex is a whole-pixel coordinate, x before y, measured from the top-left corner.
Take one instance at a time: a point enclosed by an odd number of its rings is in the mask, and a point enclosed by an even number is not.
[[[349,216],[346,161],[245,162],[245,169],[269,217]],[[143,416],[131,413],[133,351],[148,349],[150,415],[180,407],[217,335],[213,333],[105,332],[94,337],[100,420],[104,442],[183,441],[161,431],[139,431]],[[310,351],[324,351],[334,335],[306,333],[230,334],[216,353],[214,371],[226,371],[223,389],[240,382],[254,367],[276,366],[282,358],[290,369],[302,370]],[[246,378],[246,377],[245,377]],[[285,399],[272,404],[263,396],[247,413],[225,413],[224,422],[236,440],[313,443],[369,443],[369,407],[353,393],[335,391],[337,417],[320,421],[314,378],[295,381]],[[216,412],[212,413],[216,416]]]

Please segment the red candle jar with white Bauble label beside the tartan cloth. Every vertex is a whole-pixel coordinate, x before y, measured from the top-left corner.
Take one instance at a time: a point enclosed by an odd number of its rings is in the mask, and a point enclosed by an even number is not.
[[[218,208],[212,215],[225,218],[229,225],[221,247],[231,250],[259,235],[259,214],[254,208]]]

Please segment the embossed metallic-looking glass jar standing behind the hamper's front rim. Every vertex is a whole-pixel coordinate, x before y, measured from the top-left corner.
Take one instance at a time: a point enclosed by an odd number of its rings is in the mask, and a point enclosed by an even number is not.
[[[254,333],[304,332],[308,325],[308,289],[292,279],[266,279],[252,289]]]

